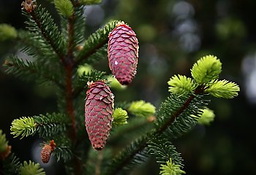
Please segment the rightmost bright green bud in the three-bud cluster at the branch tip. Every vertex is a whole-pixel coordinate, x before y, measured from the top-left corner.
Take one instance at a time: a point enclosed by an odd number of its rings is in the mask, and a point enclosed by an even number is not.
[[[215,80],[209,83],[205,92],[210,93],[211,96],[217,98],[234,98],[238,96],[240,88],[234,82],[228,82],[227,80]]]

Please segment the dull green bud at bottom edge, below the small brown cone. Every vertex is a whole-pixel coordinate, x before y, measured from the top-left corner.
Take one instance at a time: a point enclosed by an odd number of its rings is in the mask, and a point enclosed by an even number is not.
[[[39,166],[39,163],[29,160],[29,164],[24,161],[23,166],[20,166],[20,175],[45,175],[45,171]]]

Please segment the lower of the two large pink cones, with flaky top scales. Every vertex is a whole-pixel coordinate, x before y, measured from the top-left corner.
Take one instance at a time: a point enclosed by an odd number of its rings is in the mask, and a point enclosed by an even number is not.
[[[86,92],[85,124],[92,147],[105,147],[113,121],[114,96],[105,82],[93,82]]]

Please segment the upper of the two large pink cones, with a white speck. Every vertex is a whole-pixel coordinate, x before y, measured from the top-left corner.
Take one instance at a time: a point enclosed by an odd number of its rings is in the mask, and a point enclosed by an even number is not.
[[[108,36],[108,61],[112,74],[121,85],[135,77],[138,64],[138,39],[132,28],[118,24]]]

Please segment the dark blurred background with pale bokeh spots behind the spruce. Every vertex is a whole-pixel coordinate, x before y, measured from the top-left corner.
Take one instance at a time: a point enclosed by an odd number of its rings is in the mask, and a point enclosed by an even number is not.
[[[0,1],[0,23],[25,28],[21,1]],[[58,23],[49,1],[39,1]],[[184,158],[187,174],[256,174],[256,1],[254,0],[104,0],[86,7],[86,36],[110,19],[124,20],[138,35],[138,74],[132,85],[118,92],[118,100],[143,99],[159,106],[167,96],[173,74],[190,77],[192,64],[203,55],[222,61],[220,79],[238,83],[239,96],[212,98],[216,118],[209,126],[197,126],[175,142]],[[0,62],[15,53],[24,57],[15,42],[0,43]],[[108,69],[107,58],[98,65]],[[12,120],[56,111],[54,90],[4,73],[0,67],[0,128],[7,134],[20,160],[38,161],[40,140],[13,139]],[[38,152],[38,153],[35,153]],[[53,161],[54,162],[54,161]],[[55,165],[50,166],[50,165]],[[132,174],[158,174],[154,160]],[[61,165],[49,163],[49,174],[62,174]],[[51,173],[50,173],[51,172]]]

